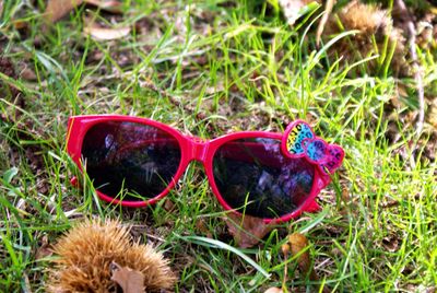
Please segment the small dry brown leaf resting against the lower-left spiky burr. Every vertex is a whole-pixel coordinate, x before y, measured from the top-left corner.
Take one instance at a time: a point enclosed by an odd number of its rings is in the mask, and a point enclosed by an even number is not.
[[[145,292],[144,290],[144,274],[140,271],[132,270],[128,267],[121,267],[117,262],[111,263],[113,277],[110,280],[117,282],[123,293],[139,293]]]

